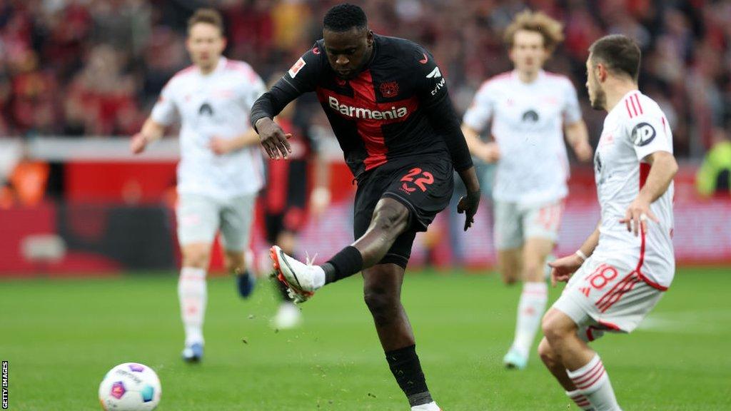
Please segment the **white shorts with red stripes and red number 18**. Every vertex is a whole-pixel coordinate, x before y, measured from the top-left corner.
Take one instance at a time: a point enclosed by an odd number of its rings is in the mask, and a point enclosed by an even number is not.
[[[645,281],[637,260],[592,256],[569,279],[553,308],[574,320],[581,339],[593,341],[604,331],[630,333],[660,301],[664,290]]]

